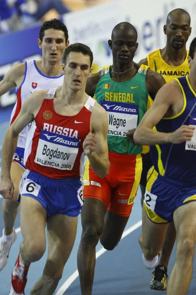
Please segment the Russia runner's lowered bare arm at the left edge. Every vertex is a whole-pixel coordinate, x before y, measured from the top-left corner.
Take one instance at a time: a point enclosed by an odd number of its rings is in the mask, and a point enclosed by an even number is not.
[[[4,199],[13,198],[14,187],[10,177],[12,157],[17,148],[19,133],[25,128],[27,124],[34,120],[35,115],[38,113],[38,110],[43,101],[43,94],[40,94],[40,92],[45,91],[35,91],[28,96],[18,117],[5,133],[2,146],[2,168],[0,183],[0,194]]]

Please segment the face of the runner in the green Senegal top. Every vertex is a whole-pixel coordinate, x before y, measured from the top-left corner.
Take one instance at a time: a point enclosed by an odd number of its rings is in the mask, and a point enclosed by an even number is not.
[[[112,49],[113,62],[119,65],[130,63],[138,48],[136,33],[131,29],[115,31],[108,44]]]

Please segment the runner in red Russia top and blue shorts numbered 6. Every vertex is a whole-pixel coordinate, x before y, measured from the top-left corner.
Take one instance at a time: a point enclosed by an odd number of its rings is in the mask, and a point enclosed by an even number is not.
[[[18,134],[32,122],[25,147],[27,170],[20,188],[24,242],[12,272],[12,286],[17,293],[25,289],[30,263],[40,260],[46,250],[46,224],[49,258],[39,281],[41,288],[36,286],[31,294],[50,295],[58,285],[73,248],[77,216],[83,205],[80,177],[84,153],[99,177],[109,171],[107,114],[85,93],[92,61],[88,46],[70,45],[64,54],[63,86],[32,93],[5,135],[0,193],[11,199],[12,154]]]

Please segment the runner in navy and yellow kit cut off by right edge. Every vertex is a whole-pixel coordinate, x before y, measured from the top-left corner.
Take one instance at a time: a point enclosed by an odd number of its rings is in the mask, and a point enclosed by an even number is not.
[[[187,294],[195,251],[196,202],[192,201],[196,201],[196,38],[188,60],[190,74],[159,90],[133,136],[136,144],[153,145],[140,237],[143,260],[155,260],[168,222],[173,221],[176,229],[176,262],[168,295]]]

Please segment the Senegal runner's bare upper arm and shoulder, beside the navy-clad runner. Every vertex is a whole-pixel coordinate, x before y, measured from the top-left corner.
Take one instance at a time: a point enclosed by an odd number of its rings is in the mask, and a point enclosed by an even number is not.
[[[146,77],[146,86],[147,92],[149,93],[152,100],[154,100],[158,90],[166,84],[165,79],[161,74],[153,72],[152,70],[147,70],[147,77]]]

